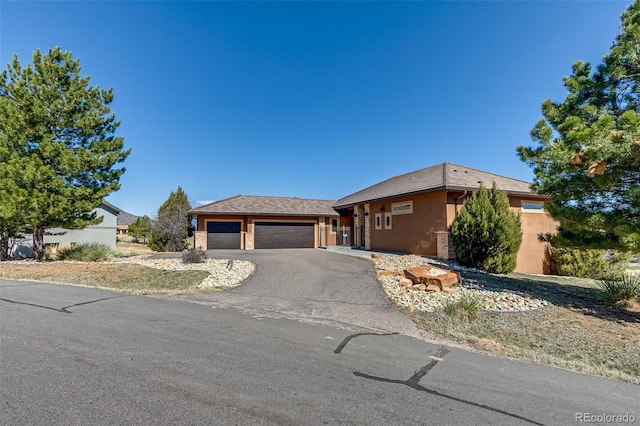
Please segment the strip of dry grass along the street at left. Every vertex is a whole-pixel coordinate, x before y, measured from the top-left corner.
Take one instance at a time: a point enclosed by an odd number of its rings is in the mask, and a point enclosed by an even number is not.
[[[205,271],[164,271],[121,263],[3,262],[0,266],[0,278],[73,284],[152,296],[204,291],[196,289],[196,285],[208,275]]]

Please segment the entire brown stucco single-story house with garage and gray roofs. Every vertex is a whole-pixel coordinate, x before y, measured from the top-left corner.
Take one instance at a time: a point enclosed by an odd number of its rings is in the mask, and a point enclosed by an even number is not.
[[[545,272],[545,243],[557,223],[548,198],[529,182],[452,163],[416,170],[338,201],[238,195],[195,208],[195,246],[202,249],[318,248],[352,245],[367,250],[455,256],[449,228],[464,201],[493,183],[521,215],[523,242],[516,271]]]

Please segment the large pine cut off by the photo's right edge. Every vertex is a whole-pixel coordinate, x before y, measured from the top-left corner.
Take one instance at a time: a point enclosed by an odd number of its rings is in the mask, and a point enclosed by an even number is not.
[[[640,249],[640,1],[622,14],[609,53],[592,69],[575,62],[562,103],[546,100],[518,147],[534,189],[552,197],[558,246]]]

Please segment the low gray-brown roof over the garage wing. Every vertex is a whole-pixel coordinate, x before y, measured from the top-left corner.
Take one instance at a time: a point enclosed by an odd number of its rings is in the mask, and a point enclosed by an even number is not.
[[[191,214],[251,214],[268,216],[338,216],[334,200],[236,195],[190,210]]]

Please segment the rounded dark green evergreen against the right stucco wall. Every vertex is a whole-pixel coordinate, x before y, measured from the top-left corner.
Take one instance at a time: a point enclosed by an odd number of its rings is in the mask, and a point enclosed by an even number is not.
[[[464,203],[451,224],[458,262],[496,274],[513,272],[522,243],[520,216],[495,184],[484,186]]]

